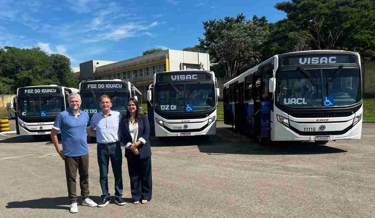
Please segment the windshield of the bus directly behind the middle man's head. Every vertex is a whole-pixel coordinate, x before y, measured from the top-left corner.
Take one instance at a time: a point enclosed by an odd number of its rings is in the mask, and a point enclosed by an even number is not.
[[[95,96],[93,95],[95,94]],[[127,112],[126,102],[129,98],[129,92],[118,92],[118,91],[94,91],[94,92],[83,92],[81,93],[81,110],[93,115],[96,112],[102,111],[100,105],[96,98],[100,101],[102,95],[107,95],[111,97],[111,102],[113,104],[111,110],[115,110],[124,114]]]

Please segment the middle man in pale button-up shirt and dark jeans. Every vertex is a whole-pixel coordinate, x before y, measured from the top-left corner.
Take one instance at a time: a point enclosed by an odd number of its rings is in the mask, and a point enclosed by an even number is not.
[[[98,207],[104,207],[110,202],[108,192],[108,165],[111,160],[113,175],[115,178],[115,204],[124,205],[122,199],[122,150],[120,147],[119,124],[121,113],[111,110],[111,97],[103,95],[100,98],[101,112],[95,113],[87,128],[89,136],[96,136],[98,142],[98,164],[100,174],[100,186],[102,188],[102,200]]]

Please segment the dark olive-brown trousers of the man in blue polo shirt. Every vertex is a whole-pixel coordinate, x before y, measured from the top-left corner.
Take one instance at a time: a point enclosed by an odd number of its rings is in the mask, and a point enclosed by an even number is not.
[[[78,157],[65,156],[65,174],[68,185],[68,199],[70,203],[77,202],[76,177],[80,173],[80,187],[82,200],[89,197],[89,155]]]

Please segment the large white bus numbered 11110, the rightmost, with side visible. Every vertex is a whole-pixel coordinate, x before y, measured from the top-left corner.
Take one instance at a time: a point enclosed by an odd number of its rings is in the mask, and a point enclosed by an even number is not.
[[[261,142],[360,139],[357,52],[275,55],[224,84],[224,122]]]

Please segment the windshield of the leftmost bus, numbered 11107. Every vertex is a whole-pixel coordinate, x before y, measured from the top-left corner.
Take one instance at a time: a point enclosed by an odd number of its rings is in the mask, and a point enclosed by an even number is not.
[[[63,96],[18,97],[19,115],[27,117],[57,116],[65,110]]]

